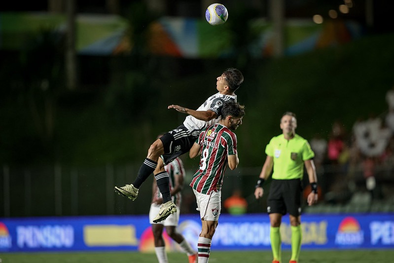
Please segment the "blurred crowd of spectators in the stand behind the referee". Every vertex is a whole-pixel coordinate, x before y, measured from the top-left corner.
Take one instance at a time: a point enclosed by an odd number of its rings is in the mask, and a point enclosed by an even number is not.
[[[350,131],[333,122],[328,139],[310,140],[326,202],[347,202],[357,191],[370,200],[390,197],[394,188],[394,86],[387,91],[387,111],[358,118]]]

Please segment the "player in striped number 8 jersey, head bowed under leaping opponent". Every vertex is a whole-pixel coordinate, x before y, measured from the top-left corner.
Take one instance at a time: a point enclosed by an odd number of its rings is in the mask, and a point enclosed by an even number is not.
[[[235,131],[242,124],[245,107],[235,101],[227,101],[221,109],[221,120],[201,133],[189,151],[190,158],[201,154],[200,167],[190,186],[200,211],[202,230],[198,238],[198,262],[208,263],[212,237],[221,209],[221,186],[227,165],[237,168],[237,137]]]

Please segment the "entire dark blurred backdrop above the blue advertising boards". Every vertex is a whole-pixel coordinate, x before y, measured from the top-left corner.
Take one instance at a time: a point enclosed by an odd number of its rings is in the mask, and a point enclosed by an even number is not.
[[[254,184],[282,113],[315,150],[320,202],[306,213],[394,212],[392,1],[11,1],[0,8],[0,217],[147,214],[113,192],[134,180],[149,145],[240,69],[240,189],[263,213]],[[182,213],[194,214],[187,187]],[[268,190],[269,182],[266,185]],[[97,205],[92,205],[97,204]],[[224,211],[225,212],[225,211]]]

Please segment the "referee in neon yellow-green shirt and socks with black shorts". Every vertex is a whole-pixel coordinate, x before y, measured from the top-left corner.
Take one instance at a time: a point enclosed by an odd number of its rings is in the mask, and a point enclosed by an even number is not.
[[[281,118],[282,134],[271,139],[265,149],[267,158],[256,188],[256,199],[263,196],[264,180],[270,176],[272,182],[267,199],[267,212],[270,218],[270,238],[274,260],[282,262],[280,226],[282,216],[289,214],[291,225],[291,259],[289,263],[297,263],[301,250],[301,181],[304,174],[304,164],[309,177],[312,191],[308,195],[308,205],[318,201],[318,185],[316,168],[313,162],[315,153],[307,140],[295,133],[297,119],[294,113],[286,112]]]

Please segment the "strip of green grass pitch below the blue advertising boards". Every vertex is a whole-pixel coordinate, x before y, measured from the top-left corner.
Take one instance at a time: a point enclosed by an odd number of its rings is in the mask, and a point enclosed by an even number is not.
[[[388,262],[394,250],[302,250],[300,263],[370,263]],[[283,251],[283,263],[290,251]],[[187,262],[186,254],[168,253],[171,263]],[[1,263],[157,263],[155,254],[138,252],[80,252],[80,253],[7,253],[0,254]],[[215,251],[210,263],[271,263],[271,251]]]

